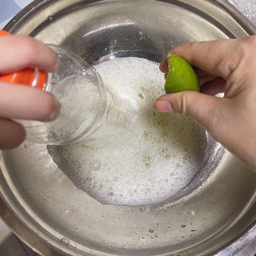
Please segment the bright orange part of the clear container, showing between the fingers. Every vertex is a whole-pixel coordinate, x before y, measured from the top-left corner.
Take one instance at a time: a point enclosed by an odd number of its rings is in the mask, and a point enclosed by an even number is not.
[[[0,30],[0,36],[10,36],[9,32],[5,30]],[[0,81],[14,83],[14,84],[24,84],[28,86],[37,87],[43,89],[45,87],[47,80],[47,73],[44,70],[36,68],[24,68],[20,71],[0,74]]]

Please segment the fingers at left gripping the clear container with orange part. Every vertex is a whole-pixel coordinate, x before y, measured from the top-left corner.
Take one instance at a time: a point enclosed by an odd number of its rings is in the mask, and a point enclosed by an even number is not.
[[[56,70],[55,52],[28,36],[0,37],[0,74],[27,67]],[[11,119],[52,121],[60,103],[49,92],[25,85],[0,82],[0,149],[15,148],[25,139],[24,127]]]

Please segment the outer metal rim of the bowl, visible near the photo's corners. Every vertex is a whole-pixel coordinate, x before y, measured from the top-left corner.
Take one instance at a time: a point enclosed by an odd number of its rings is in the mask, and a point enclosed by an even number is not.
[[[34,14],[42,6],[56,0],[34,0],[16,14],[12,20],[3,28],[4,30],[14,33],[30,15]],[[105,0],[103,0],[105,1]],[[162,1],[162,0],[157,0]],[[256,26],[244,16],[234,5],[228,0],[211,0],[226,9],[232,16],[247,29],[248,34],[256,35]],[[65,249],[55,247],[50,241],[42,241],[35,232],[30,229],[27,223],[18,216],[8,204],[6,198],[0,192],[0,216],[4,222],[12,229],[13,233],[17,235],[25,244],[32,248],[36,253],[45,256],[63,256],[67,254]],[[34,233],[33,233],[34,232]],[[245,228],[239,235],[231,241],[218,248],[216,251],[209,254],[209,256],[227,256],[235,255],[237,252],[243,250],[247,245],[251,244],[256,239],[256,219]],[[54,247],[54,250],[52,249]],[[61,253],[61,254],[60,254]],[[104,253],[107,255],[107,253]]]

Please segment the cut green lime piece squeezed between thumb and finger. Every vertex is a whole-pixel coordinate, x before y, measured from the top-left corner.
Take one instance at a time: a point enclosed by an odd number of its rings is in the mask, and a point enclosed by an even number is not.
[[[200,91],[198,77],[186,60],[174,53],[169,53],[167,62],[169,71],[164,85],[166,93]]]

